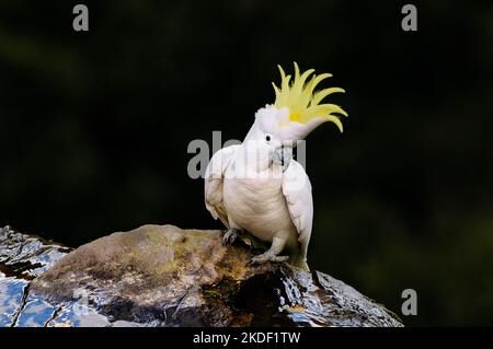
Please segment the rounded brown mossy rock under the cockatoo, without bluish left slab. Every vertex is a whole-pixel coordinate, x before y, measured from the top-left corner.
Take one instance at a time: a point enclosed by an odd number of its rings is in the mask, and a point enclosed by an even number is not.
[[[144,225],[83,245],[31,284],[51,302],[88,302],[110,321],[151,326],[401,326],[342,281],[286,264],[249,266],[220,231]]]

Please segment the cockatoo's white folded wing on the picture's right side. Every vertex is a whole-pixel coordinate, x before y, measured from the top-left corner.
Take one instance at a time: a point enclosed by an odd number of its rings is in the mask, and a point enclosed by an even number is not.
[[[313,220],[313,200],[310,179],[305,168],[295,160],[291,160],[283,174],[283,194],[289,216],[298,230],[301,252],[306,256]]]

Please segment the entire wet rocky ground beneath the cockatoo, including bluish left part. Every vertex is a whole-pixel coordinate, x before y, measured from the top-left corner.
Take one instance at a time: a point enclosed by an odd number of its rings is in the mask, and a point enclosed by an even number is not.
[[[3,229],[0,326],[402,326],[322,272],[248,266],[221,236],[145,225],[70,252]]]

